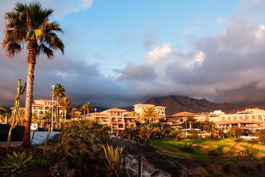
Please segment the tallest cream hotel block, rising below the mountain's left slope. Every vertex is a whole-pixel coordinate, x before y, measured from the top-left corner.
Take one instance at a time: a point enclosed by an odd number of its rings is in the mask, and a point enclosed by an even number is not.
[[[166,118],[166,116],[165,116],[166,107],[164,107],[164,106],[155,106],[155,105],[152,105],[152,104],[136,104],[136,105],[134,105],[134,107],[135,107],[134,108],[135,112],[137,114],[139,114],[139,115],[144,113],[145,108],[154,107],[160,118]]]

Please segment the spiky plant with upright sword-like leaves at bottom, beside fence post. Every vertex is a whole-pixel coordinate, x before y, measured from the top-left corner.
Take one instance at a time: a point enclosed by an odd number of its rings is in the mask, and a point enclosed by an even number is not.
[[[123,165],[123,151],[124,147],[117,146],[113,149],[110,145],[103,147],[103,156],[105,158],[105,167],[107,169],[107,176],[120,176]]]

